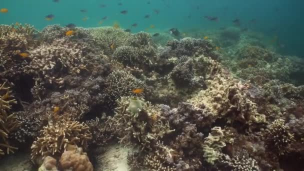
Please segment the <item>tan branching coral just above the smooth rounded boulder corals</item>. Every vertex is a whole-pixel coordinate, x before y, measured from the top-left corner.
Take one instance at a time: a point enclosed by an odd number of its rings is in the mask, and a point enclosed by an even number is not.
[[[31,158],[57,156],[69,144],[87,147],[87,143],[91,139],[88,129],[86,124],[78,121],[63,119],[54,124],[49,123],[43,127],[40,136],[32,143]]]

